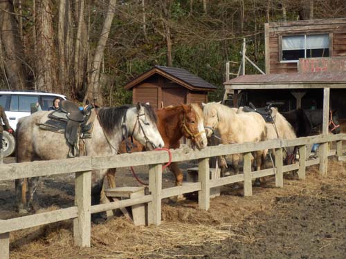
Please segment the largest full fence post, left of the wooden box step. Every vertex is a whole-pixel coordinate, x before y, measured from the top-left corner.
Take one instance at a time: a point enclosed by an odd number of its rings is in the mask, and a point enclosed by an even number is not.
[[[73,220],[73,236],[79,247],[90,247],[91,171],[75,173],[75,205],[78,218]]]

